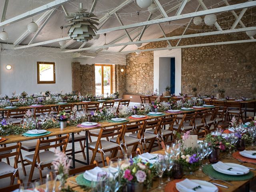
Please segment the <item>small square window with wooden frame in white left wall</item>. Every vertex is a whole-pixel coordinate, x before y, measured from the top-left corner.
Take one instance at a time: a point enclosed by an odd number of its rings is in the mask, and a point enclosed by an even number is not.
[[[38,84],[56,83],[54,62],[37,62],[37,83]]]

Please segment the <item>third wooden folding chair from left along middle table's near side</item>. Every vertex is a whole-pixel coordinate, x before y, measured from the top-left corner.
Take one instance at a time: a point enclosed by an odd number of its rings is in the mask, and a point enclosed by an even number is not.
[[[101,158],[102,158],[102,163],[103,166],[105,166],[105,160],[104,160],[104,155],[105,152],[112,151],[112,158],[116,156],[116,151],[120,150],[120,153],[122,154],[122,148],[120,147],[120,141],[122,138],[122,135],[124,134],[124,126],[118,126],[114,128],[108,128],[104,129],[102,128],[99,132],[99,134],[93,134],[92,132],[90,133],[91,136],[96,136],[98,137],[98,140],[95,142],[90,142],[88,145],[88,149],[92,150],[92,159],[91,159],[91,164],[95,160],[96,154],[100,153]],[[102,140],[102,138],[108,138],[108,137],[114,137],[116,136],[116,142],[110,142],[107,140]]]

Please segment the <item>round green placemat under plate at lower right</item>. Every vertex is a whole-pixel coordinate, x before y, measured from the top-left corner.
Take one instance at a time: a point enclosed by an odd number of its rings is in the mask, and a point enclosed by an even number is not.
[[[254,174],[250,171],[248,174],[246,175],[227,175],[227,174],[223,174],[220,173],[216,170],[213,169],[212,165],[205,165],[203,167],[203,172],[204,174],[208,175],[208,176],[212,176],[216,179],[222,179],[225,181],[244,181],[244,180],[248,180],[254,177]]]

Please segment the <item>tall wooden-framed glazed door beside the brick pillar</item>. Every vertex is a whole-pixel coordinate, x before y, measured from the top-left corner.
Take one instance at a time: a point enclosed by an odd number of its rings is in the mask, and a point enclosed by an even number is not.
[[[112,65],[95,64],[95,94],[112,94]]]

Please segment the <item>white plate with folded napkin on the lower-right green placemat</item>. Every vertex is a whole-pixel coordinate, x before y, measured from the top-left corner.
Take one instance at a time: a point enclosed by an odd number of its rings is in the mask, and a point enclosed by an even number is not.
[[[224,164],[221,161],[219,161],[216,164],[213,164],[212,166],[214,168],[216,168],[217,170],[221,170],[222,172],[227,172],[227,173],[231,173],[231,174],[234,174],[234,175],[246,174],[249,171],[248,168],[230,167],[230,166]]]

